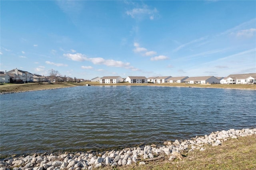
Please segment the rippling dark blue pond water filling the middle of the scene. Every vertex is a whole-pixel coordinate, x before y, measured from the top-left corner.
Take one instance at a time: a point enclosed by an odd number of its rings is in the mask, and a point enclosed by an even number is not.
[[[1,95],[0,151],[89,150],[256,126],[256,91],[82,86]]]

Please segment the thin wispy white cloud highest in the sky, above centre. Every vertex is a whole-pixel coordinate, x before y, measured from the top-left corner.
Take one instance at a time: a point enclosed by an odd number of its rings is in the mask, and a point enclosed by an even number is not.
[[[154,20],[154,16],[158,15],[158,11],[156,8],[149,9],[148,6],[144,5],[142,8],[133,8],[132,10],[126,11],[126,14],[132,18],[149,18],[150,20]]]

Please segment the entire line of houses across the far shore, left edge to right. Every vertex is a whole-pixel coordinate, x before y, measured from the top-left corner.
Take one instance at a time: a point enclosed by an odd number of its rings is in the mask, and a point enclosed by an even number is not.
[[[20,69],[12,69],[10,71],[0,72],[0,83],[24,83],[24,82],[56,82],[56,81],[76,81],[83,82],[89,81],[84,79],[72,79],[71,77],[56,76],[54,79],[50,76],[42,76],[32,74],[28,71],[22,71]],[[95,77],[91,81],[98,81],[100,83],[186,83],[186,84],[255,84],[256,73],[246,74],[230,74],[227,77],[214,77],[214,76],[201,76],[201,77],[172,77],[172,76],[160,76],[160,77],[144,77],[144,76],[128,76],[122,78],[120,76],[104,76]]]

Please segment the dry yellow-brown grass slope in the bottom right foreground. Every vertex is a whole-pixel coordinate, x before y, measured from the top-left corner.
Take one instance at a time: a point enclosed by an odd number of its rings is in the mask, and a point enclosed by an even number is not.
[[[229,139],[220,146],[183,153],[183,160],[168,158],[146,165],[104,167],[104,170],[256,170],[256,135]]]

